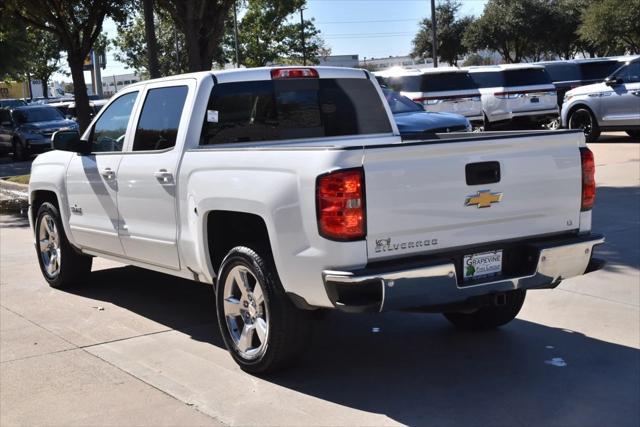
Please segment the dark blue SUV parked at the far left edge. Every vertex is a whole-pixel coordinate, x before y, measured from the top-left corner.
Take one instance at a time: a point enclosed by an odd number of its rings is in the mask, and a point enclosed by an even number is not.
[[[78,125],[46,105],[0,109],[0,146],[13,152],[15,160],[51,149],[51,135],[61,129],[78,130]]]

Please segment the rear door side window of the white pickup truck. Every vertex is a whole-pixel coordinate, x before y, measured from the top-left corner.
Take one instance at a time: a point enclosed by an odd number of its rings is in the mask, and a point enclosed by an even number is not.
[[[176,145],[187,86],[150,89],[140,113],[133,151],[165,150]]]

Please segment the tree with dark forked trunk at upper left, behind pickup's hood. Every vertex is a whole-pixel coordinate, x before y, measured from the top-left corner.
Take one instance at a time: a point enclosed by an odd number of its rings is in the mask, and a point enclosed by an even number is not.
[[[78,125],[89,125],[89,98],[84,60],[102,30],[106,16],[125,19],[128,3],[118,0],[7,0],[9,11],[34,28],[54,34],[67,53],[73,79]]]

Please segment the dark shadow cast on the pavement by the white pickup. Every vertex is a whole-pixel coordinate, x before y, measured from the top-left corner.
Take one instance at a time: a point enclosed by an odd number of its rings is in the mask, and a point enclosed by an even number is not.
[[[211,286],[122,267],[74,293],[223,348]],[[298,366],[264,380],[408,425],[638,423],[634,348],[518,319],[464,333],[439,315],[332,312],[314,326]]]

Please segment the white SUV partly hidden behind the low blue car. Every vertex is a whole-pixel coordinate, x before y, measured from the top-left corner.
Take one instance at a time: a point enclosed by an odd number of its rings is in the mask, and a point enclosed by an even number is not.
[[[475,128],[484,127],[480,91],[467,70],[455,67],[391,69],[376,73],[385,85],[434,113],[465,116]]]

